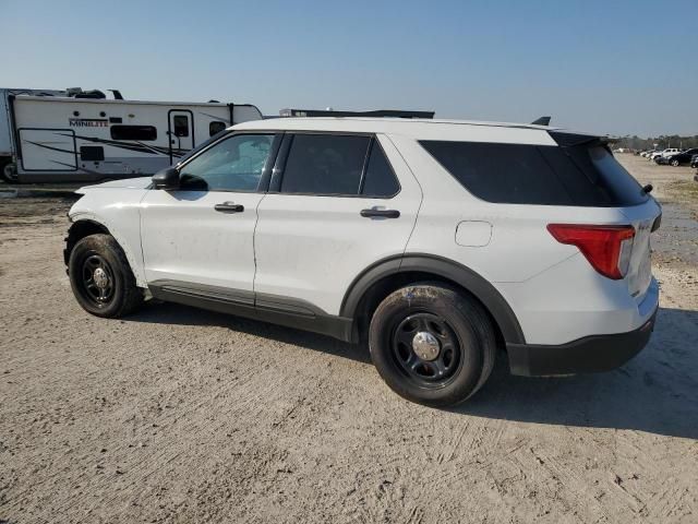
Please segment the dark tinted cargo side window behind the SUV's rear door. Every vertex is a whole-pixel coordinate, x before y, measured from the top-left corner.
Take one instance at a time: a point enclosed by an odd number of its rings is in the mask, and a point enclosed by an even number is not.
[[[570,195],[533,145],[422,141],[460,184],[488,202],[570,205]]]

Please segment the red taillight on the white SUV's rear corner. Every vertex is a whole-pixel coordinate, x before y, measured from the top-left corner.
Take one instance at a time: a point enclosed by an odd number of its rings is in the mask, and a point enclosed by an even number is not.
[[[617,281],[627,273],[635,237],[633,226],[549,224],[547,230],[558,242],[577,246],[602,275]]]

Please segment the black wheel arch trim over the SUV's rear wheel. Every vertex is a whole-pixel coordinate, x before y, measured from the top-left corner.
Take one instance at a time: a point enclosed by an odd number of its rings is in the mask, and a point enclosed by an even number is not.
[[[446,278],[472,294],[488,309],[507,344],[526,344],[521,326],[502,294],[471,269],[428,253],[410,253],[383,259],[360,273],[341,302],[340,317],[356,318],[361,299],[380,281],[400,273],[420,272]]]

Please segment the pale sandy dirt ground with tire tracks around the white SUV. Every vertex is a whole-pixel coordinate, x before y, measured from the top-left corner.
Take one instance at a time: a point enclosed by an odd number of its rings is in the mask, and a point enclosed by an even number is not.
[[[622,369],[393,394],[366,353],[174,305],[81,310],[60,198],[0,199],[0,523],[698,522],[698,183],[664,204],[650,345]]]

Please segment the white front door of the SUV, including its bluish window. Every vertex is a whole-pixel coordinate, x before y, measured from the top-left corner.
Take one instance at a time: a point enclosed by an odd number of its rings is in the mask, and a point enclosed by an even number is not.
[[[254,227],[274,139],[225,136],[179,168],[179,189],[148,191],[141,210],[148,285],[251,296]]]

